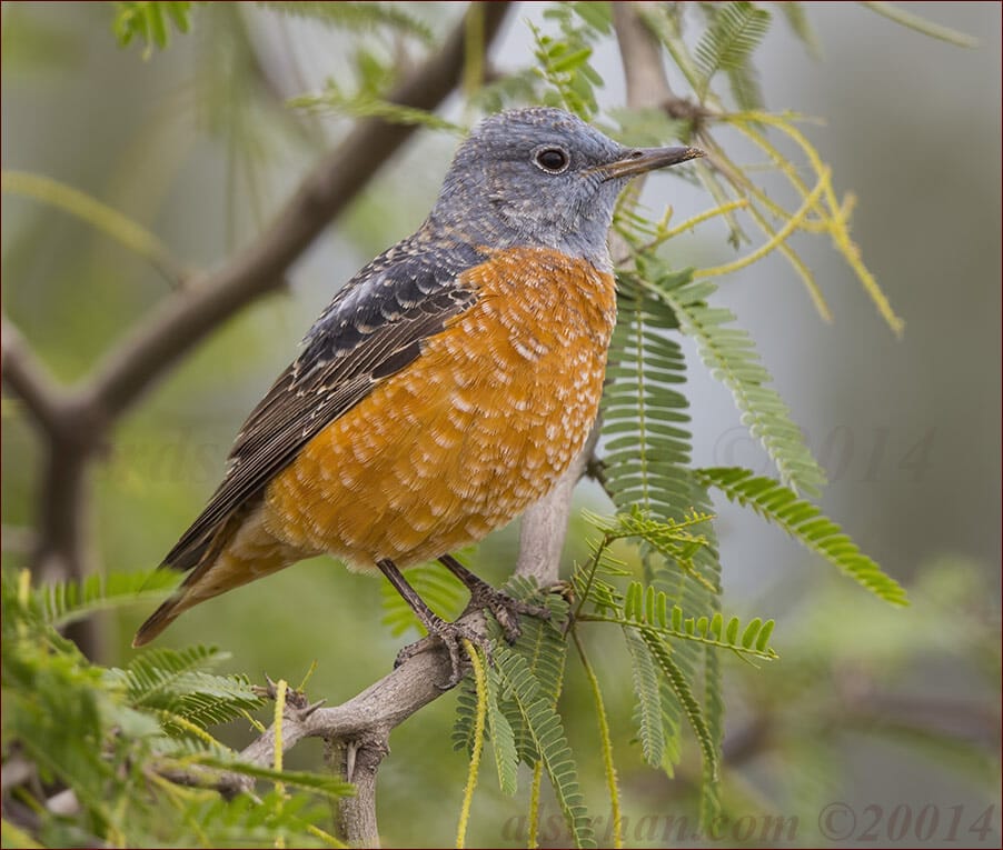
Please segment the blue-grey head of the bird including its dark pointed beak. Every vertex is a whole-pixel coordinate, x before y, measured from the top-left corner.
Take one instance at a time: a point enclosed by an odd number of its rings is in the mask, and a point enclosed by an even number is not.
[[[537,246],[608,266],[613,208],[632,177],[696,148],[626,148],[562,109],[499,112],[460,146],[429,216],[491,247]]]

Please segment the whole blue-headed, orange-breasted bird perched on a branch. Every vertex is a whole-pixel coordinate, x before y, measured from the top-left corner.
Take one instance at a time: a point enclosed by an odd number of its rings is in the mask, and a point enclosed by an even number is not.
[[[538,501],[582,451],[616,321],[617,197],[702,156],[628,148],[550,107],[477,124],[423,224],[335,294],[248,416],[222,481],[163,559],[188,574],[133,647],[320,553],[390,581],[446,644],[448,686],[463,640],[484,639],[436,616],[401,570],[438,559],[515,640],[519,614],[538,609],[453,552]]]

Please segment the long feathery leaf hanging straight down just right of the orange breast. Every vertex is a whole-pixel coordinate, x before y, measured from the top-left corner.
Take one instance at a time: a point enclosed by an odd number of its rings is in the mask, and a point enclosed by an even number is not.
[[[639,506],[661,521],[684,522],[694,511],[709,514],[706,490],[688,469],[686,400],[673,389],[685,380],[682,351],[666,337],[678,328],[678,321],[661,296],[666,286],[685,286],[689,280],[688,271],[667,274],[648,254],[637,257],[636,271],[620,274],[620,312],[610,349],[614,364],[607,371],[613,381],[603,408],[603,431],[609,438],[604,456],[607,491],[622,511]],[[691,560],[665,557],[664,551],[648,547],[642,549],[642,563],[648,583],[666,594],[666,602],[713,614],[721,604],[721,564],[713,527],[707,523],[703,530],[705,541],[689,551]],[[706,669],[704,657],[712,651],[717,650],[692,640],[674,647],[674,670],[692,699],[697,699],[694,689]],[[705,679],[702,684],[705,702],[719,701],[719,680]],[[673,687],[662,692],[666,741],[663,764],[669,773],[678,760],[683,716],[693,714],[681,701],[681,691]],[[716,753],[723,734],[721,717],[711,712],[707,718],[702,744]],[[716,799],[716,790],[708,787],[716,781],[716,771],[706,773],[704,797]]]

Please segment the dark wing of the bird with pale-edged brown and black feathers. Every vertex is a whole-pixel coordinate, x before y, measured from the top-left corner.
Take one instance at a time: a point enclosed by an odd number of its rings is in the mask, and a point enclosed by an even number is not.
[[[406,242],[352,278],[247,418],[222,483],[163,566],[196,567],[235,512],[256,500],[312,437],[418,358],[423,341],[476,300],[459,276],[484,259],[470,246]]]

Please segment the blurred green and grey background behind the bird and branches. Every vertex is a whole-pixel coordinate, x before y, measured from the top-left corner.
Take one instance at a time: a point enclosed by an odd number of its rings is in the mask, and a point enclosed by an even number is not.
[[[461,10],[409,6],[439,34]],[[721,290],[830,473],[826,512],[913,598],[910,609],[888,609],[775,529],[721,506],[725,610],[776,617],[782,654],[763,669],[724,660],[728,811],[797,817],[797,841],[808,844],[821,840],[818,812],[834,801],[862,819],[868,804],[882,807],[882,846],[896,843],[888,816],[900,804],[913,818],[936,807],[942,822],[963,807],[962,843],[1000,841],[1001,8],[916,6],[975,34],[979,47],[933,41],[861,7],[812,3],[821,60],[782,27],[758,52],[768,106],[825,119],[807,131],[837,189],[858,196],[854,231],[906,320],[905,338],[893,338],[821,240],[800,249],[831,300],[833,324],[817,319],[781,260]],[[543,9],[519,4],[510,16],[493,51],[500,68],[528,61],[525,21],[538,21]],[[4,3],[2,16],[3,169],[93,194],[191,267],[212,268],[252,239],[349,126],[284,104],[348,67],[349,40],[316,23],[215,3],[200,10],[191,34],[143,60],[140,48],[116,46],[106,4]],[[374,50],[399,47],[379,34],[370,40]],[[603,102],[620,102],[612,44],[596,64],[607,80]],[[461,118],[454,101],[447,111]],[[120,423],[90,506],[101,569],[158,562],[316,313],[424,218],[454,146],[448,134],[419,133],[292,269],[289,292],[228,322]],[[653,181],[646,191],[652,209],[672,202],[681,219],[708,206],[682,181]],[[87,376],[168,294],[147,263],[76,219],[12,194],[3,196],[2,214],[4,314],[60,380]],[[734,256],[713,228],[677,243],[681,266]],[[693,362],[696,462],[765,471],[731,398]],[[16,567],[30,547],[40,446],[7,397],[2,424],[3,561]],[[608,509],[589,488],[582,503]],[[582,556],[585,534],[576,520],[569,559]],[[491,538],[476,556],[479,571],[502,581],[515,546],[514,529]],[[187,613],[163,641],[216,643],[232,653],[232,670],[291,682],[316,659],[309,692],[337,703],[388,670],[403,640],[380,624],[380,582],[317,559]],[[147,613],[106,618],[102,661],[129,657]],[[695,770],[696,761],[684,762],[674,781],[643,766],[629,742],[624,658],[602,640],[592,650],[600,678],[618,686],[606,697],[627,839],[664,846],[662,827],[652,837],[640,819],[693,819],[687,766]],[[590,708],[574,710],[588,704],[574,664],[569,677],[563,708],[572,744],[596,752]],[[453,697],[439,700],[394,734],[379,791],[388,844],[451,841],[466,768],[449,744],[453,704]],[[230,738],[248,732],[234,729]],[[602,767],[583,758],[586,796],[603,813]],[[301,744],[290,760],[316,767],[319,746]],[[965,832],[987,807],[990,831]],[[517,843],[513,818],[524,809],[485,772],[471,842]],[[947,844],[946,834],[942,823],[923,846]]]

